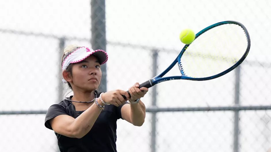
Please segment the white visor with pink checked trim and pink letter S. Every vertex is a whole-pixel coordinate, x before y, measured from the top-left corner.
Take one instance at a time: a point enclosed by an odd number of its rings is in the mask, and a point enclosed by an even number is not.
[[[69,54],[66,57],[66,59],[63,61],[62,71],[66,70],[68,65],[70,65],[72,63],[78,63],[78,62],[85,60],[91,54],[94,54],[99,59],[99,62],[101,65],[106,63],[106,61],[108,60],[108,55],[104,50],[95,50],[94,51],[91,48],[89,49],[89,48],[83,46],[83,47],[76,49],[75,51],[73,51],[71,54]]]

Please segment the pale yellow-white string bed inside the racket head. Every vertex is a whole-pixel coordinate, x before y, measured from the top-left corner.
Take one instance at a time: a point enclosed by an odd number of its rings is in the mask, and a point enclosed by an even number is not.
[[[241,26],[226,24],[196,38],[181,57],[184,73],[189,77],[210,77],[237,63],[247,48]]]

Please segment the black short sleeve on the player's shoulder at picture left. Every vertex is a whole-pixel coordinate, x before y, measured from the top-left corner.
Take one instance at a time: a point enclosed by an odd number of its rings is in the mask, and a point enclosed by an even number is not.
[[[62,114],[68,115],[64,106],[59,104],[54,104],[50,106],[45,116],[45,127],[53,130],[51,124],[49,123],[49,120]]]

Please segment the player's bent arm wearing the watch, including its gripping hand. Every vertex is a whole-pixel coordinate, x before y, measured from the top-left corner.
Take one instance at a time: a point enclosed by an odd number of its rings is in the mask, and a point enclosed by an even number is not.
[[[142,87],[139,89],[138,87],[139,83],[135,83],[133,87],[129,88],[129,93],[131,94],[130,104],[125,104],[121,108],[122,118],[134,126],[142,126],[146,116],[146,107],[140,98],[144,97],[148,92],[148,88]],[[138,99],[138,103],[134,103]]]

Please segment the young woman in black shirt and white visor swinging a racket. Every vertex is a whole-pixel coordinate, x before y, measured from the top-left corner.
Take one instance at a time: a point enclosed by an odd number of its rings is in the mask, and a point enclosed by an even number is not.
[[[96,90],[102,77],[100,65],[107,59],[103,50],[78,46],[64,49],[63,82],[68,83],[73,96],[50,106],[45,116],[45,126],[54,130],[61,152],[116,152],[117,120],[135,126],[144,123],[146,111],[140,98],[147,88],[139,89],[139,83],[135,83],[129,88],[131,98],[124,90]]]

